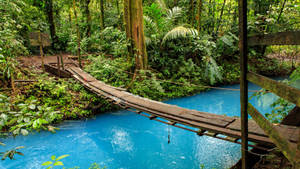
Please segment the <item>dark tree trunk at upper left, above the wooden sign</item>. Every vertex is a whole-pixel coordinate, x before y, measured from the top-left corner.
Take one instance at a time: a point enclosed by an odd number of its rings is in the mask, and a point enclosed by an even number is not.
[[[47,20],[48,20],[48,23],[49,23],[50,36],[51,36],[51,39],[52,39],[51,46],[52,46],[53,49],[55,49],[56,48],[56,43],[58,42],[58,38],[56,36],[56,31],[55,31],[52,0],[45,1],[45,9],[46,9]]]

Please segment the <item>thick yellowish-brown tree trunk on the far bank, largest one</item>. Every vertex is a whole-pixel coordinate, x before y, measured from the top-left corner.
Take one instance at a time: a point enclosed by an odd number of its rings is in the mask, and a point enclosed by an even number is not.
[[[130,56],[135,56],[136,69],[147,69],[148,57],[143,28],[142,0],[124,0],[124,23],[127,39],[131,42]]]

